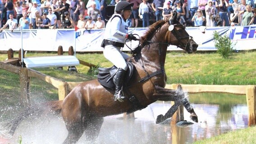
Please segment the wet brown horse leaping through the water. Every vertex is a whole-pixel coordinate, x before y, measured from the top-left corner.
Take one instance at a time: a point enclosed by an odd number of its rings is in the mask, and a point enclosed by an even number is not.
[[[198,45],[192,36],[188,35],[185,27],[178,21],[158,21],[149,27],[139,42],[140,45],[133,50],[133,55],[128,60],[134,69],[133,76],[123,88],[127,97],[123,102],[114,101],[114,90],[101,85],[96,79],[77,85],[63,101],[48,102],[49,110],[61,113],[68,130],[68,136],[63,144],[76,143],[84,131],[87,139],[93,140],[100,132],[103,117],[135,112],[157,100],[175,101],[175,104],[165,116],[158,116],[156,123],[171,117],[180,104],[191,113],[190,118],[198,122],[197,115],[181,87],[179,90],[165,88],[167,47],[176,45],[187,53],[194,53]],[[19,123],[39,109],[28,108],[21,116],[9,122],[9,134],[13,135]]]

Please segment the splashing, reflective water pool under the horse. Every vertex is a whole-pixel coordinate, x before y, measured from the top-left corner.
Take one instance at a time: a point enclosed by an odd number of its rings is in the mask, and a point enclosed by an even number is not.
[[[228,97],[228,99],[227,99]],[[187,127],[155,124],[159,114],[165,114],[170,103],[156,102],[135,112],[135,119],[123,120],[123,115],[104,118],[95,144],[190,144],[229,131],[243,129],[248,124],[248,110],[244,95],[193,94],[190,101],[198,116],[198,123]],[[184,111],[184,119],[189,113]],[[0,144],[62,144],[67,130],[61,117],[41,117],[33,122],[23,121],[12,139],[0,139]],[[91,144],[85,134],[78,144]]]

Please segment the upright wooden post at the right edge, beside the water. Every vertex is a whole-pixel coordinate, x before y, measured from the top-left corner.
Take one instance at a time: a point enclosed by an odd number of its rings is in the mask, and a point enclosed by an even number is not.
[[[256,125],[256,89],[255,85],[248,85],[246,88],[246,99],[248,107],[248,126]]]

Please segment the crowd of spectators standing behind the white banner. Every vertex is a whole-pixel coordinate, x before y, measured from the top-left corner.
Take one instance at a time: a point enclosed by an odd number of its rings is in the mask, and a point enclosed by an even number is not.
[[[170,20],[173,12],[185,26],[256,24],[255,0],[127,0],[133,10],[129,27],[148,27],[150,20]],[[111,0],[116,5],[120,0]],[[107,23],[107,0],[0,0],[0,31],[22,29],[101,29]],[[175,13],[176,14],[176,13]]]

